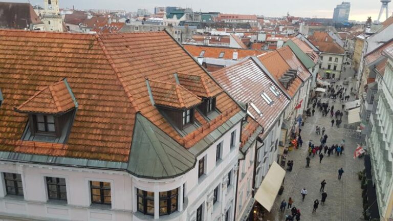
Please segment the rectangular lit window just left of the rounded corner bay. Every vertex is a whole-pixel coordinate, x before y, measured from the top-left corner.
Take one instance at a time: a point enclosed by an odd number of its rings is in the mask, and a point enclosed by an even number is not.
[[[112,204],[111,183],[90,181],[90,193],[93,204]]]

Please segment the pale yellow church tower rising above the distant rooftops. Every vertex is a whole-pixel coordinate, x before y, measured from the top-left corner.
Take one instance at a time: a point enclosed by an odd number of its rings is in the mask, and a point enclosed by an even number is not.
[[[59,10],[59,0],[43,0],[43,11],[40,14],[45,30],[63,32],[63,21]]]

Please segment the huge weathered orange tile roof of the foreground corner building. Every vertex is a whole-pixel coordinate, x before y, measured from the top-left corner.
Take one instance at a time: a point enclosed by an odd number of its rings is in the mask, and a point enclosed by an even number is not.
[[[242,111],[222,93],[216,100],[222,114],[181,137],[151,104],[145,80],[170,82],[174,73],[210,79],[166,32],[78,34],[0,30],[0,88],[4,97],[0,108],[0,151],[124,162],[132,149],[137,113],[189,148]],[[67,143],[61,150],[57,146],[19,148],[17,141],[27,116],[14,112],[13,107],[28,100],[42,86],[63,78],[67,78],[79,104]]]

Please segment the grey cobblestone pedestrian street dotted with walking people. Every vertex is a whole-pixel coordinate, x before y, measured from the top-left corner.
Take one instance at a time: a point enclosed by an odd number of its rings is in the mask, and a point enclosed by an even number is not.
[[[342,73],[341,81],[336,84],[341,85],[344,77],[351,75],[353,76],[353,71],[347,69],[346,72]],[[347,86],[347,92],[350,91],[351,86],[351,84]],[[326,99],[328,98],[322,98],[322,101]],[[350,100],[354,100],[354,96]],[[329,103],[330,106],[332,104],[335,106],[335,110],[340,109],[341,111],[342,103],[339,101],[333,103],[332,99],[330,99]],[[347,130],[343,129],[343,125],[347,123],[345,114],[342,117],[343,122],[340,128],[337,128],[336,125],[331,127],[331,120],[330,114],[328,114],[328,117],[322,117],[318,109],[315,109],[314,116],[305,119],[305,124],[301,127],[303,146],[289,152],[287,160],[294,161],[293,170],[291,172],[287,171],[284,181],[285,190],[282,195],[277,196],[269,220],[285,220],[285,215],[290,214],[290,210],[280,212],[279,206],[282,200],[288,202],[289,197],[292,197],[294,201],[292,206],[300,209],[300,220],[363,220],[362,190],[357,172],[363,170],[364,166],[362,159],[353,159],[353,153],[359,140],[346,136]],[[325,134],[329,136],[326,145],[341,144],[344,140],[345,148],[342,156],[332,154],[328,157],[328,154],[325,154],[321,163],[319,163],[317,154],[315,157],[311,156],[310,167],[306,168],[305,158],[308,155],[309,140],[315,145],[320,145],[321,135],[316,135],[316,125],[326,128]],[[338,170],[341,167],[344,169],[344,174],[339,181]],[[312,213],[314,201],[316,199],[319,202],[321,201],[321,192],[319,190],[322,180],[326,180],[325,191],[328,193],[328,197],[326,198],[325,205],[319,204],[316,213]],[[304,202],[301,201],[300,194],[300,190],[303,187],[308,191]]]

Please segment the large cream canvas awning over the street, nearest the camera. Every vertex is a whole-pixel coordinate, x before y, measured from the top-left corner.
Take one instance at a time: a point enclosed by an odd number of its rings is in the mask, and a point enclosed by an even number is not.
[[[255,193],[255,200],[270,212],[285,176],[285,170],[275,161]]]

